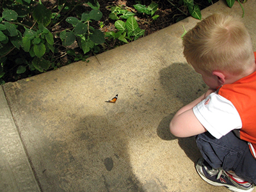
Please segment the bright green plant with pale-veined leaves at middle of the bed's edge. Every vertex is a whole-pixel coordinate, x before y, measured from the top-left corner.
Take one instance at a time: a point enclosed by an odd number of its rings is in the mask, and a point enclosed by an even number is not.
[[[138,22],[133,16],[129,17],[126,22],[116,20],[115,27],[118,29],[117,32],[109,31],[106,32],[105,36],[109,39],[114,38],[125,43],[128,43],[127,40],[136,40],[145,33],[145,30],[140,29]]]

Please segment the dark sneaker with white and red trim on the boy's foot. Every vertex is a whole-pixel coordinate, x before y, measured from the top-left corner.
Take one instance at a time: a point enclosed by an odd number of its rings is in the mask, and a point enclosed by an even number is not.
[[[254,184],[250,182],[238,182],[228,172],[225,172],[221,168],[212,168],[204,159],[200,158],[196,163],[196,171],[207,183],[214,186],[225,186],[230,191],[243,192],[252,191]]]

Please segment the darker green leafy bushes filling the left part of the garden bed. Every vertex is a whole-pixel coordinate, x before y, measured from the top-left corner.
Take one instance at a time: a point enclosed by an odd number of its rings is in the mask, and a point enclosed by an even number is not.
[[[61,58],[60,51],[56,49],[58,39],[63,45],[61,49],[66,50],[64,55],[72,56],[75,61],[88,58],[72,49],[68,50],[67,47],[76,42],[84,54],[99,52],[99,44],[105,42],[104,33],[90,26],[93,20],[97,22],[102,18],[98,1],[87,1],[88,8],[92,9],[89,12],[83,10],[82,1],[57,2],[54,12],[40,0],[38,3],[31,0],[3,1],[3,12],[0,15],[0,84],[4,83],[4,76],[10,75],[7,70],[10,65],[15,69],[16,74],[12,74],[15,79],[19,79],[28,70],[38,74],[60,67],[60,63],[56,62]],[[77,13],[77,17],[68,17],[71,12]],[[72,27],[58,34],[53,33],[52,29],[63,22]]]

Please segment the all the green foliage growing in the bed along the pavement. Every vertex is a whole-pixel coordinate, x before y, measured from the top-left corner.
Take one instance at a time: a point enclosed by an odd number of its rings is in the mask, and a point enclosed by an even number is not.
[[[97,54],[104,47],[105,39],[113,40],[114,44],[116,40],[121,44],[136,40],[145,33],[139,27],[138,17],[147,17],[148,24],[159,17],[155,15],[158,4],[154,1],[148,6],[134,4],[135,11],[127,6],[113,6],[106,20],[115,20],[115,31],[104,35],[102,28],[105,20],[101,20],[102,12],[97,0],[60,0],[56,1],[52,10],[41,0],[38,1],[1,2],[0,84],[6,77],[17,80],[66,65],[61,63],[63,57],[67,58],[66,63],[86,61],[90,54]],[[173,0],[167,1],[172,4]],[[226,1],[231,8],[236,0]],[[202,18],[194,0],[180,2],[185,7],[184,12],[180,10],[182,15],[188,16],[188,11],[196,19]]]

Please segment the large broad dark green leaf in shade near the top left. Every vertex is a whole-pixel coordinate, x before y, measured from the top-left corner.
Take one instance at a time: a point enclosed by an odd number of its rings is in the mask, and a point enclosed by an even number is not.
[[[46,27],[51,23],[52,12],[44,4],[38,4],[33,11],[33,17],[38,23],[42,23]]]

